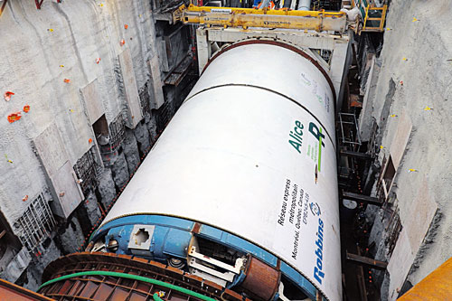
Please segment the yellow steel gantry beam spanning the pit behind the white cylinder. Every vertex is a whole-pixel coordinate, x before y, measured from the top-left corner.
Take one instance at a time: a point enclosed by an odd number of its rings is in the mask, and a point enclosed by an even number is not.
[[[346,14],[314,11],[267,10],[236,7],[182,5],[174,21],[222,27],[264,27],[344,33]]]

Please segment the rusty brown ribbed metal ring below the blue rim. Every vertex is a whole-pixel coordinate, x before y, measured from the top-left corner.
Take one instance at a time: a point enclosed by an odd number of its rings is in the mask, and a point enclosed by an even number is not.
[[[44,270],[42,281],[40,293],[55,300],[242,300],[230,289],[178,268],[113,253],[61,257]]]

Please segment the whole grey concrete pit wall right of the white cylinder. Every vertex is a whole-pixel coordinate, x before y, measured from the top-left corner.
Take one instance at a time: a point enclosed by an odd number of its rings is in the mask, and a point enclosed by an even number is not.
[[[418,283],[452,256],[451,14],[447,0],[391,1],[381,71],[368,100],[380,125],[380,163],[383,156],[400,158],[391,202],[403,229],[390,259],[384,244],[377,251],[377,259],[389,260],[383,300],[394,300],[407,280]],[[387,223],[384,216],[376,219]]]

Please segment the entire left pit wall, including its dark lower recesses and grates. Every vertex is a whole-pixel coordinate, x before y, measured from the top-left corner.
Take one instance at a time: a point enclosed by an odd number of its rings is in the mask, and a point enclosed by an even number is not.
[[[33,1],[8,1],[0,36],[0,91],[14,92],[0,99],[0,211],[22,239],[19,221],[37,197],[54,217],[40,243],[11,250],[0,277],[35,290],[47,262],[86,245],[190,85],[167,89],[164,98],[149,1],[44,0],[41,10]],[[101,154],[98,134],[114,122],[123,137]],[[82,187],[74,166],[88,153],[96,176]]]

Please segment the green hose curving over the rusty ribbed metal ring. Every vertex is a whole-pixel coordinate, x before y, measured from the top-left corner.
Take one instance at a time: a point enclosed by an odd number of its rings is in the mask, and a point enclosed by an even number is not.
[[[194,296],[197,297],[198,299],[202,299],[205,301],[216,301],[216,299],[213,299],[209,296],[204,296],[201,295],[199,293],[193,292],[193,290],[190,289],[186,289],[184,287],[178,287],[178,286],[174,286],[172,284],[160,281],[160,280],[155,280],[153,278],[148,278],[148,277],[143,277],[143,276],[138,276],[138,275],[130,275],[130,274],[125,274],[125,273],[118,273],[118,272],[108,272],[108,271],[100,271],[100,270],[89,270],[86,272],[80,272],[80,273],[73,273],[70,275],[64,275],[61,277],[57,277],[54,278],[52,280],[49,280],[45,283],[42,283],[41,287],[38,288],[38,290],[40,290],[42,287],[48,286],[52,283],[55,283],[57,281],[61,281],[64,279],[68,279],[71,277],[79,277],[79,276],[86,276],[86,275],[99,275],[99,276],[112,276],[112,277],[123,277],[123,278],[128,278],[128,279],[133,279],[133,280],[138,280],[138,281],[143,281],[143,282],[147,282],[147,283],[151,283],[157,286],[161,286],[161,287],[166,287],[166,288],[170,288],[170,289],[174,289],[178,292],[184,293],[186,295],[189,296]],[[158,299],[156,299],[155,297],[157,297]],[[159,296],[154,295],[154,300],[155,301],[160,301],[162,300]]]

